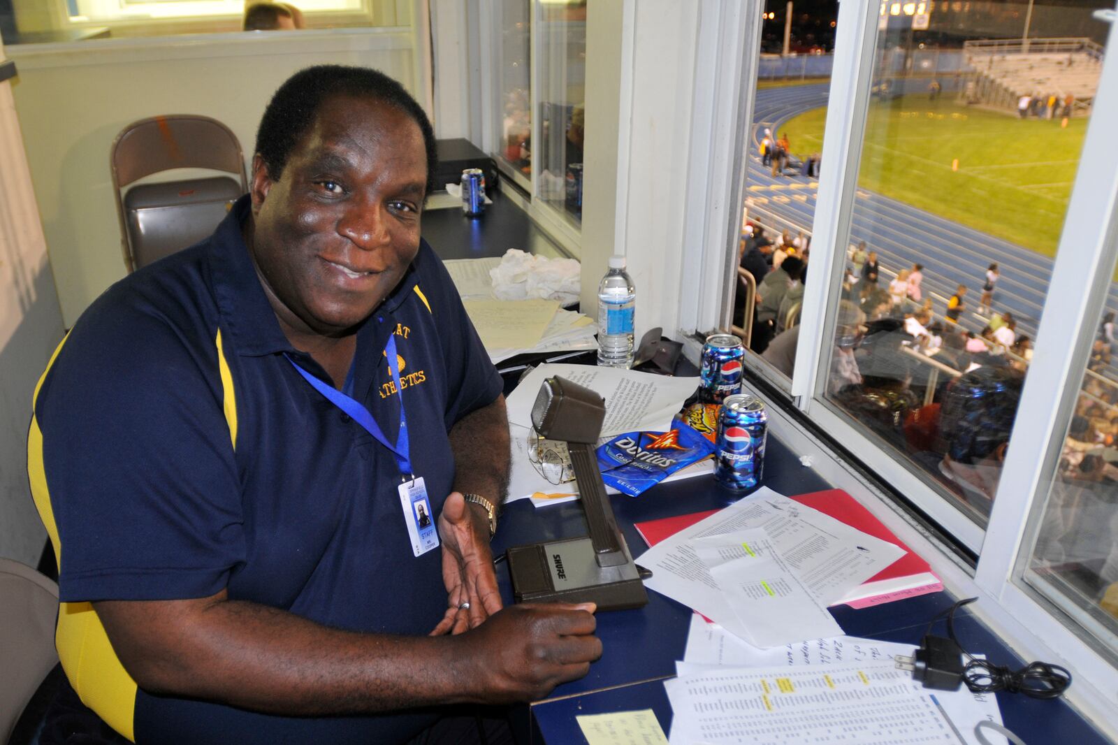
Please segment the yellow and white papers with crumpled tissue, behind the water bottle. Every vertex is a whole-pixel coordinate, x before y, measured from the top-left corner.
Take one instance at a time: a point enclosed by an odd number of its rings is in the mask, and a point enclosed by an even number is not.
[[[566,262],[574,263],[574,293],[572,267]],[[510,248],[502,258],[452,260],[444,265],[493,364],[524,352],[597,348],[597,324],[561,308],[578,299],[578,262]]]

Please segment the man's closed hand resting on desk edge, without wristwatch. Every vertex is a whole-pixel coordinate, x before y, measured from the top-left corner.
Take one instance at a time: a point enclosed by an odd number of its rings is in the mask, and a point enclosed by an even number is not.
[[[476,702],[536,701],[559,683],[577,680],[601,657],[594,635],[594,603],[512,605],[457,636],[474,653],[463,681]]]

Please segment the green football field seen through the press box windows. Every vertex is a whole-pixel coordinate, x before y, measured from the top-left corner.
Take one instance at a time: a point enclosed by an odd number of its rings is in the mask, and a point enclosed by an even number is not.
[[[793,152],[818,152],[825,120],[816,109],[780,131]],[[1054,256],[1086,128],[1086,117],[1062,128],[946,96],[874,101],[859,186]]]

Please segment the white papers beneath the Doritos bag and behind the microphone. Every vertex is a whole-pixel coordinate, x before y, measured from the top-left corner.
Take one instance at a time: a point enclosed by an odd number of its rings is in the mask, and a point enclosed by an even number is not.
[[[599,444],[625,432],[666,432],[683,402],[694,393],[699,378],[673,378],[593,365],[540,365],[524,376],[506,402],[512,469],[509,500],[532,499],[537,507],[577,499],[578,484],[553,484],[540,474],[528,458],[531,411],[546,378],[559,376],[596,392],[606,400],[606,418]],[[676,481],[711,472],[713,462],[701,461],[676,471],[665,481]],[[617,493],[614,489],[606,489]]]

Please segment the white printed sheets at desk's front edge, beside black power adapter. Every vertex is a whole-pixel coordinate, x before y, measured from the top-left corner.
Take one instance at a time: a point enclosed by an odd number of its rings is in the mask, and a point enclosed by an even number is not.
[[[979,745],[974,734],[983,720],[1002,724],[1002,713],[993,694],[972,694],[965,688],[957,691],[928,691],[912,680],[911,675],[897,670],[897,654],[911,656],[911,644],[883,642],[856,636],[812,639],[773,649],[757,649],[727,632],[722,626],[708,623],[699,614],[691,619],[688,645],[683,660],[676,663],[679,678],[665,683],[674,711],[670,742],[680,745],[692,742],[742,743],[805,743],[823,741],[824,729],[811,730],[805,726],[808,717],[813,726],[832,727],[842,732],[843,726],[878,727],[860,729],[858,743],[965,743]],[[797,676],[789,676],[795,672]],[[861,675],[859,675],[861,673]],[[712,679],[712,676],[714,679]],[[846,691],[842,680],[854,679],[859,685]],[[865,681],[862,677],[865,677]],[[825,695],[814,689],[815,700],[802,696],[811,691],[811,683],[822,680]],[[827,685],[830,680],[830,683]],[[717,686],[737,686],[733,695]],[[758,699],[756,689],[762,696]],[[769,690],[764,690],[768,686]],[[845,696],[839,706],[831,706],[828,696]],[[860,692],[861,691],[861,692]],[[880,698],[864,700],[872,692]],[[723,700],[728,708],[717,713],[710,705]],[[856,704],[863,702],[861,706]],[[757,704],[760,706],[757,706]],[[850,706],[855,704],[855,706]],[[889,711],[885,711],[885,708]],[[897,713],[903,710],[903,716]],[[704,727],[704,737],[724,729],[729,717],[743,733],[703,739],[695,736],[697,727]],[[911,717],[906,718],[906,717]],[[789,722],[792,724],[789,724]],[[926,728],[918,729],[913,725]],[[713,727],[713,729],[711,729]],[[786,729],[781,730],[781,727]],[[910,732],[900,732],[909,728]],[[776,734],[773,734],[776,730]],[[863,733],[869,733],[863,736]],[[872,737],[879,737],[873,739]],[[910,737],[906,739],[903,737]],[[986,734],[991,742],[1004,743],[999,736]]]

